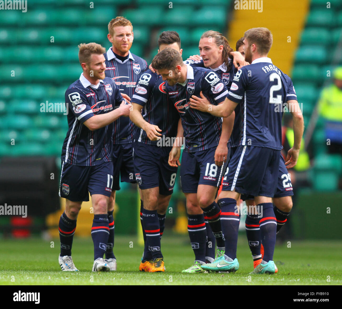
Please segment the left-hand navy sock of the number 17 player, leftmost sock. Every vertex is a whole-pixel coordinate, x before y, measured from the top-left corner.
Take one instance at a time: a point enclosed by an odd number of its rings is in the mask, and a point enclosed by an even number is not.
[[[76,230],[76,220],[69,219],[65,212],[58,223],[58,231],[60,232],[61,254],[60,256],[71,256],[71,247],[73,246],[73,238]]]

